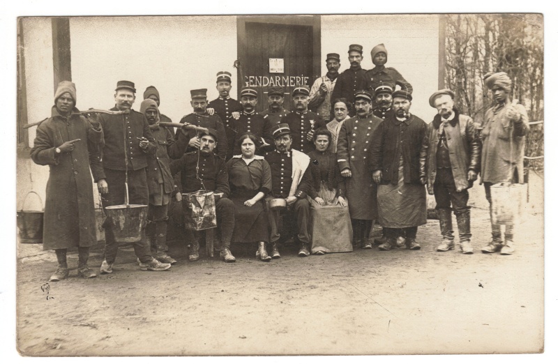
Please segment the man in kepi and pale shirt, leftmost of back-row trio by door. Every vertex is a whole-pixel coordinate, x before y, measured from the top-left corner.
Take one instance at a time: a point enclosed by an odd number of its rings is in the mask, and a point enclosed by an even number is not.
[[[337,82],[339,75],[340,57],[337,53],[329,53],[326,56],[327,73],[325,76],[319,77],[312,84],[310,89],[310,101],[308,106],[310,109],[315,110],[319,116],[325,121],[330,121],[333,118],[331,114],[331,93]]]

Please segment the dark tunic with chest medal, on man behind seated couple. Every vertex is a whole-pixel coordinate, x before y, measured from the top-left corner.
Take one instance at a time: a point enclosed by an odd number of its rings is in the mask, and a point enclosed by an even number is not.
[[[292,112],[287,116],[283,116],[281,123],[289,124],[292,137],[292,149],[308,154],[315,149],[315,145],[311,140],[306,139],[306,135],[310,130],[318,130],[325,128],[326,123],[321,116],[315,112]]]

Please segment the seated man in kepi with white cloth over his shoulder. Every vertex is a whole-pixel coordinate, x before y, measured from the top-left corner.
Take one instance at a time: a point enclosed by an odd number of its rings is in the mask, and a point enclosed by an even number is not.
[[[294,149],[291,149],[292,137],[288,124],[282,123],[272,130],[276,150],[266,153],[265,159],[271,167],[271,193],[266,200],[286,199],[287,214],[294,215],[298,234],[297,240],[301,245],[300,257],[308,257],[310,251],[310,204],[306,195],[310,189],[310,158]],[[277,241],[280,238],[278,231],[279,211],[269,211],[269,225],[271,226],[271,257],[280,257]]]

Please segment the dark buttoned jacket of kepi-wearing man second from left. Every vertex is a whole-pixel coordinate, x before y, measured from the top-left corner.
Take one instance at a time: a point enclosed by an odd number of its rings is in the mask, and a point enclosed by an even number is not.
[[[117,111],[118,109],[113,107],[111,110]],[[105,145],[102,153],[103,168],[125,171],[126,158],[128,158],[128,170],[137,171],[147,167],[147,155],[155,154],[157,148],[144,114],[131,109],[130,114],[101,114],[99,122],[105,133]],[[126,138],[123,136],[125,134]],[[149,140],[146,151],[140,148],[140,141],[137,139],[142,137]],[[98,177],[98,179],[103,178],[105,178],[104,175]]]

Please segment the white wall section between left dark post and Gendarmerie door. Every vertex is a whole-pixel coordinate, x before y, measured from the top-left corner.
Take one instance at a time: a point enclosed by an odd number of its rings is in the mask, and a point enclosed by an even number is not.
[[[192,112],[191,89],[218,96],[216,74],[232,74],[236,98],[236,17],[70,18],[72,78],[77,107],[109,109],[120,79],[135,83],[140,110],[147,86],[160,93],[160,111],[178,122]]]

